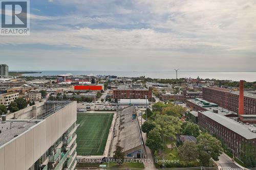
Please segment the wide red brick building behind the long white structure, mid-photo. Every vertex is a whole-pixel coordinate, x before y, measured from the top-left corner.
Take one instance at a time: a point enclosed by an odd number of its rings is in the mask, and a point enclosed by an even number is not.
[[[152,98],[152,87],[148,89],[114,89],[113,99],[147,99]]]

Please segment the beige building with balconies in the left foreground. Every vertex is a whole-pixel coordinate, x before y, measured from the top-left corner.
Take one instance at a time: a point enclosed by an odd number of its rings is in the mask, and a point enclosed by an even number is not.
[[[3,115],[1,170],[76,167],[76,102],[47,101]]]

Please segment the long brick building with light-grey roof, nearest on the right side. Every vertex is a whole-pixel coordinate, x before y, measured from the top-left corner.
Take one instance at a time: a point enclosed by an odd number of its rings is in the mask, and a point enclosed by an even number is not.
[[[210,111],[198,111],[198,125],[221,139],[238,158],[243,156],[245,144],[253,144],[256,148],[255,125],[239,123],[236,119]]]

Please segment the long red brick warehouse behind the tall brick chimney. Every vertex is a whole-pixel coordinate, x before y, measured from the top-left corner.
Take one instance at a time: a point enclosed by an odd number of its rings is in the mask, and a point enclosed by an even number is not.
[[[238,113],[239,91],[207,87],[203,88],[203,99]],[[244,114],[256,114],[256,94],[244,92]]]

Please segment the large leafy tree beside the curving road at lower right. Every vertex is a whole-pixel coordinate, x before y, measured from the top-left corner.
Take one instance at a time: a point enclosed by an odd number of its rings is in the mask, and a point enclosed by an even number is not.
[[[199,150],[199,159],[203,165],[207,165],[210,158],[214,159],[215,161],[219,160],[219,156],[223,152],[220,140],[212,137],[208,133],[203,133],[197,137],[197,144]]]

